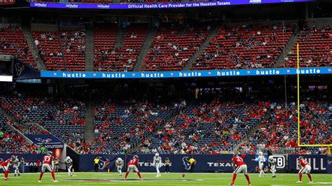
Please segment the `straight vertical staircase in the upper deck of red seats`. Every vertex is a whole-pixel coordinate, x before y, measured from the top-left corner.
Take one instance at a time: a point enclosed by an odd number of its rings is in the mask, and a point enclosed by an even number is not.
[[[86,27],[85,37],[85,71],[93,71],[93,60],[95,53],[95,31],[92,27]]]

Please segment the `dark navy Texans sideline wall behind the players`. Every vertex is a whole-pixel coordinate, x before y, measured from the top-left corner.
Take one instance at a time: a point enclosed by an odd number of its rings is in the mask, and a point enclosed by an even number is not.
[[[1,159],[8,159],[11,155],[17,154],[0,154]],[[43,155],[27,154],[17,155],[18,157],[25,158],[25,172],[36,172],[38,170],[37,159],[43,159]],[[100,158],[99,171],[106,172],[116,171],[114,163],[118,157],[121,157],[125,162],[129,162],[133,155],[78,155],[71,154],[74,159],[74,169],[78,171],[90,172],[94,171],[93,159]],[[197,173],[206,172],[220,172],[230,173],[233,172],[231,159],[233,155],[160,155],[162,161],[165,157],[170,158],[172,165],[170,166],[171,172],[189,172],[190,167],[188,160],[193,157],[196,159],[194,171]],[[298,173],[298,164],[296,158],[298,155],[274,155],[277,160],[277,171],[279,173]],[[327,155],[303,155],[305,159],[312,166],[312,173],[332,173],[332,157]],[[244,162],[248,166],[249,173],[256,172],[257,162],[253,159],[256,155],[246,155]],[[123,167],[123,171],[127,169],[127,164]],[[267,166],[267,163],[265,163]],[[162,166],[161,171],[165,167]],[[13,170],[13,169],[11,169]],[[139,171],[141,172],[155,172],[153,166],[153,155],[139,155]]]

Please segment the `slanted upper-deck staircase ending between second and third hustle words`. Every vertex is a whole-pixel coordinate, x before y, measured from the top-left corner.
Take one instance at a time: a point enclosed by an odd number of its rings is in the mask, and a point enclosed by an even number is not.
[[[144,62],[146,55],[148,55],[148,50],[152,44],[153,38],[155,38],[155,34],[157,34],[157,29],[154,27],[150,27],[147,31],[146,39],[141,47],[141,52],[139,52],[139,58],[137,60],[134,71],[141,71],[141,64]]]

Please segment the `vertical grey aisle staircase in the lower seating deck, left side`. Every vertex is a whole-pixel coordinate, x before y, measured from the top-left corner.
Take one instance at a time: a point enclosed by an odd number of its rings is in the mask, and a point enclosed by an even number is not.
[[[84,113],[84,138],[86,142],[94,143],[95,139],[95,116],[93,114],[94,102],[92,99],[88,99],[85,103]]]

